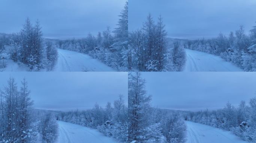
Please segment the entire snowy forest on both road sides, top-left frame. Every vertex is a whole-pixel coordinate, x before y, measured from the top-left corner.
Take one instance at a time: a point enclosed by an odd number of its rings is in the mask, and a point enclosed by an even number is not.
[[[119,17],[113,31],[107,26],[96,37],[89,33],[83,39],[67,40],[43,38],[39,21],[32,25],[27,19],[20,32],[0,34],[0,70],[11,59],[28,67],[28,71],[52,71],[58,60],[57,48],[61,48],[88,54],[117,71],[127,71],[128,1]]]

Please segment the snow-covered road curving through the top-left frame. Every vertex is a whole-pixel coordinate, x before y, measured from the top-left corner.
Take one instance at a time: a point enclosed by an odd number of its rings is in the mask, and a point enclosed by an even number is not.
[[[89,55],[58,49],[58,61],[54,71],[115,71]]]

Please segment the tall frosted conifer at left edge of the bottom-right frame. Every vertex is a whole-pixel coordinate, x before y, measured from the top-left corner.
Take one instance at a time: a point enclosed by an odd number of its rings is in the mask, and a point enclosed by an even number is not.
[[[145,80],[140,73],[129,74],[128,82],[128,142],[142,143],[147,140],[144,138],[147,133],[144,129],[149,127],[149,109],[151,96],[145,90]]]

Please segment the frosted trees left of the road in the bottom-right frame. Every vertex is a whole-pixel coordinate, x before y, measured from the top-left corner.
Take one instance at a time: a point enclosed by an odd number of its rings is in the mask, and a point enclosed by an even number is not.
[[[153,108],[145,79],[130,73],[128,82],[128,142],[185,143],[186,124],[182,114]]]

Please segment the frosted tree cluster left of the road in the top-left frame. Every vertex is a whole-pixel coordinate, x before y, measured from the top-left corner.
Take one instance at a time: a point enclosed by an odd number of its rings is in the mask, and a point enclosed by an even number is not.
[[[10,35],[0,34],[0,55],[0,70],[6,67],[6,60],[10,59],[25,65],[29,71],[51,71],[58,59],[56,45],[42,38],[39,20],[33,25],[28,18],[21,31]]]

